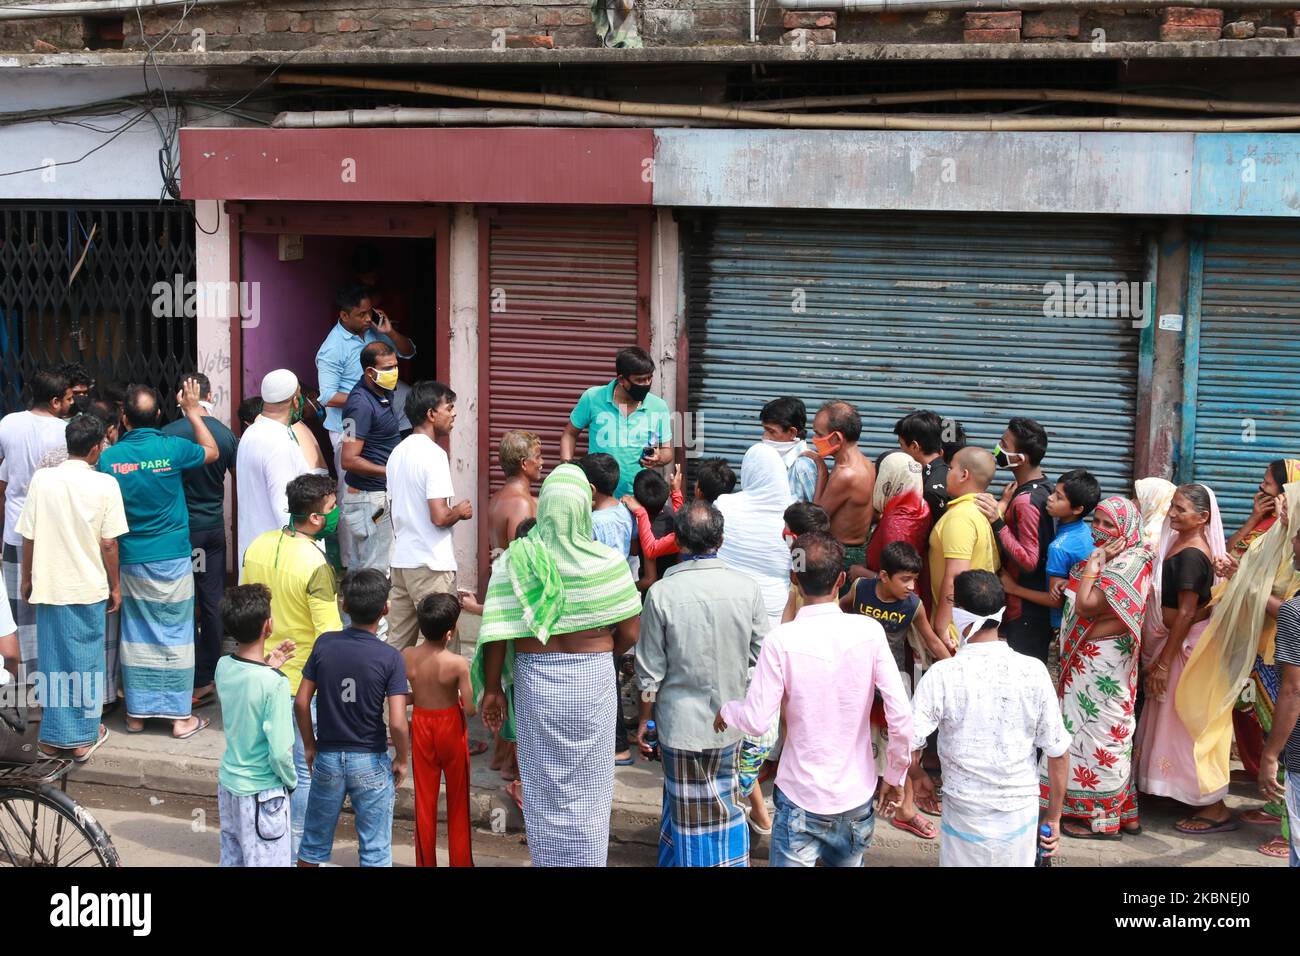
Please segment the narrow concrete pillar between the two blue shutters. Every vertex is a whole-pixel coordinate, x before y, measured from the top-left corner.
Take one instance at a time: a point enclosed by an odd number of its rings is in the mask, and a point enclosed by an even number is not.
[[[1187,315],[1190,241],[1184,220],[1166,220],[1153,237],[1156,260],[1152,328],[1143,337],[1138,376],[1135,477],[1173,480],[1183,408],[1183,332],[1160,328],[1160,316]]]

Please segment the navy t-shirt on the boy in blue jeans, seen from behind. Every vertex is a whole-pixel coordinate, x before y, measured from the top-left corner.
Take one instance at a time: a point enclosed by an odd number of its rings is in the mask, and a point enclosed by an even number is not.
[[[385,753],[385,700],[411,693],[402,654],[359,627],[322,633],[303,666],[316,684],[316,749]]]

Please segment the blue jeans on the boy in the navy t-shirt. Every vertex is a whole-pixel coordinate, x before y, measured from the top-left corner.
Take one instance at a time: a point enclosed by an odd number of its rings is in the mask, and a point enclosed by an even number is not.
[[[393,758],[384,753],[325,750],[312,766],[312,799],[298,858],[328,864],[343,797],[352,803],[361,866],[393,865]]]

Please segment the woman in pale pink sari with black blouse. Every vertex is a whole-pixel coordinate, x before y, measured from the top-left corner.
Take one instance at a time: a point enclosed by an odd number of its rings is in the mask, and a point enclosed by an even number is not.
[[[1214,564],[1225,554],[1214,492],[1199,484],[1179,485],[1165,519],[1143,627],[1147,697],[1138,724],[1136,780],[1143,793],[1196,808],[1193,816],[1175,825],[1184,834],[1225,832],[1239,826],[1223,803],[1227,775],[1212,788],[1202,786],[1197,734],[1175,706],[1187,662],[1209,624]]]

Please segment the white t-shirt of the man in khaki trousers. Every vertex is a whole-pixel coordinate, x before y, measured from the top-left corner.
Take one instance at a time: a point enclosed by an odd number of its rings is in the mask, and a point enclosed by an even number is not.
[[[426,434],[403,438],[389,455],[389,498],[393,502],[393,567],[455,571],[451,528],[429,516],[430,498],[450,498],[451,463]]]

